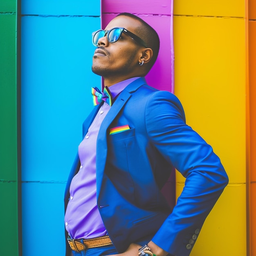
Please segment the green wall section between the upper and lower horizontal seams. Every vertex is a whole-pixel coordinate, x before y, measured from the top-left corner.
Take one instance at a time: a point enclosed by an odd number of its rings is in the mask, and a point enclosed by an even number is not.
[[[17,180],[16,15],[0,24],[0,180]]]

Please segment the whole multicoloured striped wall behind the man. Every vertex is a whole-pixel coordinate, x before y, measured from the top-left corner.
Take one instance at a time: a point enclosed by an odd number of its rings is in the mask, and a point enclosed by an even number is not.
[[[90,72],[91,31],[121,11],[139,14],[166,36],[147,80],[154,86],[160,79],[155,87],[179,97],[187,123],[229,175],[191,256],[256,255],[256,2],[174,0],[173,10],[170,4],[0,2],[0,255],[52,255],[56,244],[55,255],[64,254],[65,183],[92,108],[86,88],[101,82]],[[166,71],[173,66],[172,12],[175,81]],[[183,186],[176,173],[177,196]],[[48,238],[55,243],[37,250]]]

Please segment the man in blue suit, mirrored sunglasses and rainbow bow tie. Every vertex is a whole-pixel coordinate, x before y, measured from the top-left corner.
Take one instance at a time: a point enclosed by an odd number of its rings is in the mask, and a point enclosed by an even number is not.
[[[121,13],[93,43],[92,71],[105,89],[92,89],[100,104],[83,124],[67,182],[67,255],[71,248],[86,256],[187,256],[227,185],[225,170],[185,124],[180,101],[146,84],[159,50],[148,24]],[[160,190],[173,167],[186,182],[171,211]]]

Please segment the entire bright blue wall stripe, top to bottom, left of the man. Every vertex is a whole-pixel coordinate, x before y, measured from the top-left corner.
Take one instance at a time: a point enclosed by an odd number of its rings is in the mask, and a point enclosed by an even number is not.
[[[91,34],[100,23],[99,0],[22,1],[25,256],[64,255],[65,184],[82,139],[83,120],[92,109],[90,88],[101,85],[100,77],[91,71],[95,49]]]

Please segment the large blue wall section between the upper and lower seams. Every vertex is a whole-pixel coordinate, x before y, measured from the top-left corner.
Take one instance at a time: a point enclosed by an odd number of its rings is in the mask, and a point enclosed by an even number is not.
[[[88,28],[89,29],[85,29]],[[22,17],[22,180],[65,180],[92,109],[95,17]]]

